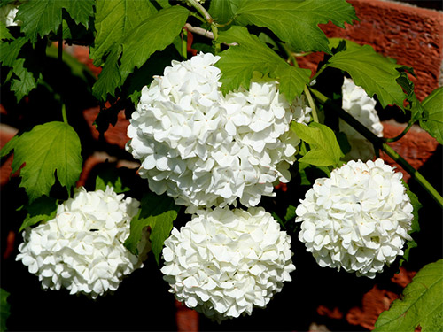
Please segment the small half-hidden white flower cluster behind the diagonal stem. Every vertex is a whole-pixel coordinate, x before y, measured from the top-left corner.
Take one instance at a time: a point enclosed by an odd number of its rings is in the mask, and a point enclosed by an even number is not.
[[[366,91],[354,84],[354,81],[345,77],[342,86],[342,107],[350,113],[356,120],[359,120],[365,127],[378,137],[383,136],[383,125],[378,118],[376,111],[377,102],[368,96]],[[374,146],[364,138],[353,127],[349,126],[344,120],[339,120],[340,131],[346,134],[351,145],[351,151],[346,153],[346,160],[363,161],[374,158]]]

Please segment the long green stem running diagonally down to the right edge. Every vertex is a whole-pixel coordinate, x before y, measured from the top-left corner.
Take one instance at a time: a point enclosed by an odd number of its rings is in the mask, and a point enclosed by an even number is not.
[[[381,149],[385,151],[385,153],[391,157],[393,160],[397,162],[408,174],[411,175],[411,178],[417,181],[424,190],[426,190],[431,197],[437,202],[437,204],[443,208],[443,197],[439,194],[439,192],[432,187],[431,183],[427,181],[422,174],[420,174],[413,166],[411,166],[408,161],[402,158],[396,151],[392,149],[387,143],[384,142],[384,139],[378,137],[374,133],[372,133],[367,127],[361,124],[360,121],[356,120],[351,114],[343,110],[338,104],[335,104],[330,100],[330,98],[324,96],[320,91],[316,89],[309,88],[312,94],[317,98],[317,100],[321,104],[325,104],[329,106],[329,109],[333,112],[336,112],[338,116],[345,120],[349,125],[354,127],[361,135],[363,135],[370,143],[374,144],[374,147],[377,149]]]

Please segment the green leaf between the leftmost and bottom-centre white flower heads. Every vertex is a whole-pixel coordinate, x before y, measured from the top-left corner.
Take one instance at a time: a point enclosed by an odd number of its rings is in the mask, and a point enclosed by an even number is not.
[[[171,197],[159,196],[154,193],[144,195],[140,212],[131,220],[130,234],[125,241],[125,246],[129,251],[137,254],[137,244],[141,239],[142,230],[149,226],[151,228],[152,252],[159,264],[163,243],[171,232],[179,209],[180,207],[175,205],[174,199]]]

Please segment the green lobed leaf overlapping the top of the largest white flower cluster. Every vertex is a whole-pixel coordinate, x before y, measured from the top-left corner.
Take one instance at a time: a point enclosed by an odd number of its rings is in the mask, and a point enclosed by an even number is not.
[[[309,82],[309,70],[287,64],[256,35],[249,34],[245,27],[221,31],[217,42],[237,43],[221,52],[221,59],[215,64],[221,69],[223,93],[240,86],[249,89],[254,72],[269,74],[280,81],[280,89],[289,101],[299,96]]]

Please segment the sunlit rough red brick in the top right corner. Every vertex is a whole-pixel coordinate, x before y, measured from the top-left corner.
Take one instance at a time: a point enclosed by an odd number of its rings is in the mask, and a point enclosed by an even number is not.
[[[340,28],[320,25],[328,37],[369,44],[416,72],[416,95],[422,100],[439,88],[443,60],[443,13],[380,0],[349,0],[360,22]],[[315,70],[322,53],[299,58],[299,65]]]

